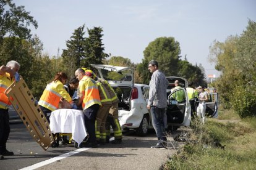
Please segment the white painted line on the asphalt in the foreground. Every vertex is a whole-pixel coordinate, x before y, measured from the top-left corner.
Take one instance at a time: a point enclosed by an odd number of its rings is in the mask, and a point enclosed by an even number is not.
[[[88,150],[88,149],[89,148],[79,148],[77,150],[74,150],[74,151],[71,151],[71,152],[68,152],[68,153],[64,153],[63,155],[59,155],[59,156],[56,156],[54,158],[51,158],[49,160],[45,160],[45,161],[42,161],[40,163],[33,164],[31,166],[27,166],[27,167],[22,168],[20,170],[40,168],[41,166],[45,166],[46,164],[50,164],[50,163],[53,163],[55,161],[62,160],[64,158],[67,158],[69,156],[75,155],[75,154],[77,154],[79,152],[83,152],[83,151]]]

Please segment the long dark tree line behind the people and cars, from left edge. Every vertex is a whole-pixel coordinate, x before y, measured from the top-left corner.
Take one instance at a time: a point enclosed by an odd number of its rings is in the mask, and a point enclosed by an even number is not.
[[[66,41],[61,55],[49,56],[43,54],[40,38],[31,33],[30,26],[37,28],[38,23],[24,6],[16,7],[12,0],[0,0],[0,17],[1,65],[9,60],[19,62],[19,73],[35,97],[41,96],[56,73],[63,71],[71,78],[77,68],[92,69],[91,63],[132,67],[135,83],[148,84],[151,77],[148,62],[153,59],[158,61],[166,76],[181,76],[194,86],[207,86],[202,65],[192,65],[187,58],[181,60],[179,42],[173,37],[156,38],[143,51],[142,63],[133,63],[126,57],[105,53],[103,28],[89,29],[82,25]]]

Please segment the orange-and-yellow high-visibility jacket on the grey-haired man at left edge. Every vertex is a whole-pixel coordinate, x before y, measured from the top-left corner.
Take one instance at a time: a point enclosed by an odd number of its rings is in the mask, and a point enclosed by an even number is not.
[[[5,73],[4,75],[0,75],[0,108],[7,109],[7,105],[11,105],[12,103],[9,101],[8,97],[4,92],[6,89],[11,86],[14,79],[11,78],[9,73]]]

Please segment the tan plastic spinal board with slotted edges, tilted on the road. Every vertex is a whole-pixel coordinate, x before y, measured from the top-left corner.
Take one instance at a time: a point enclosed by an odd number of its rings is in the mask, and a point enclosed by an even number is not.
[[[18,82],[12,83],[11,86],[6,89],[5,94],[33,139],[35,139],[44,150],[51,147],[54,139],[49,123],[33,97],[32,92],[30,92],[27,84],[22,79],[22,76],[20,76]]]

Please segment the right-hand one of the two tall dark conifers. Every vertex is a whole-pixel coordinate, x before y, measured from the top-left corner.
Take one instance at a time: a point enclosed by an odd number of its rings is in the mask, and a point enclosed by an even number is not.
[[[88,29],[88,38],[85,39],[85,58],[82,60],[81,65],[86,68],[91,68],[90,64],[102,64],[103,60],[109,57],[104,52],[105,47],[102,42],[103,29],[101,27],[94,27]]]

